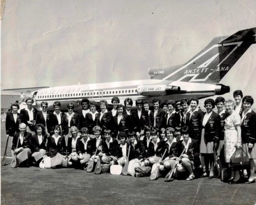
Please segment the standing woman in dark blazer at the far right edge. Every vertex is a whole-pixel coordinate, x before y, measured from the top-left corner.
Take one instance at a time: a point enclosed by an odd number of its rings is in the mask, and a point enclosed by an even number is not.
[[[241,124],[242,145],[243,150],[250,158],[250,170],[247,170],[247,173],[250,173],[250,177],[246,183],[254,183],[256,160],[256,113],[251,108],[254,99],[252,96],[245,96],[242,103],[244,107]]]

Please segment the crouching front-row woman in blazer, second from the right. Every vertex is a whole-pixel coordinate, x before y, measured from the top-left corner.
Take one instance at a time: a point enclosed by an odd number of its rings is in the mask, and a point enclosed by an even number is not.
[[[165,143],[167,152],[165,153],[165,158],[163,160],[163,166],[160,166],[160,170],[169,170],[175,166],[176,159],[179,157],[178,142],[173,135],[173,128],[166,128],[165,133],[167,141]]]

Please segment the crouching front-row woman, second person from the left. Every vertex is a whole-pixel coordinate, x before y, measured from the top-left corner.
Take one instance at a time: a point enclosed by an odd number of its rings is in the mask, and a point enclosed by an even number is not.
[[[46,154],[47,134],[43,124],[35,125],[34,131],[35,134],[31,138],[32,160],[36,166],[39,166],[41,159]]]

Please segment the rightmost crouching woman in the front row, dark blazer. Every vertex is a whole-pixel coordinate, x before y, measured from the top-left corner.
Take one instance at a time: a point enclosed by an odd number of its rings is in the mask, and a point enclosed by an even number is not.
[[[197,141],[189,136],[189,128],[187,126],[181,129],[183,140],[178,142],[178,147],[180,148],[179,154],[185,149],[184,154],[182,154],[181,165],[177,168],[177,171],[183,173],[185,171],[189,172],[189,177],[186,180],[192,180],[195,178],[195,172],[200,166],[199,158],[199,147],[197,146]],[[197,174],[196,174],[197,175]]]

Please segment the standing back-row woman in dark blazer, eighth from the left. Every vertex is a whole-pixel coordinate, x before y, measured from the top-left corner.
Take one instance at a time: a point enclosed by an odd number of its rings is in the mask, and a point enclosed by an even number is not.
[[[100,110],[99,118],[97,121],[97,125],[101,128],[101,132],[103,133],[104,129],[111,129],[112,128],[112,112],[107,110],[107,101],[101,100],[99,102]]]

